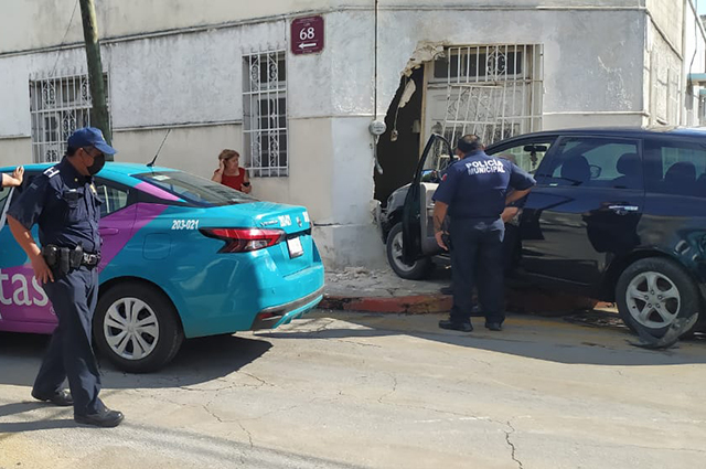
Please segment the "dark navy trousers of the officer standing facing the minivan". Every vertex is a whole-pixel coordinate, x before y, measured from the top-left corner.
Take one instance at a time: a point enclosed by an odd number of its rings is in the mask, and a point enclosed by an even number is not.
[[[453,307],[451,320],[469,322],[478,299],[489,322],[503,322],[503,236],[504,224],[498,221],[454,218],[451,221],[451,271]]]

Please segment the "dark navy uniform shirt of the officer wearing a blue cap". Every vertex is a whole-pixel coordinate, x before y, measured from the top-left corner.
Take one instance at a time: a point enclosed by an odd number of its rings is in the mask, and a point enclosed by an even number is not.
[[[92,177],[81,174],[64,158],[35,177],[8,210],[28,230],[40,228],[40,244],[60,247],[82,245],[100,252],[100,204]]]

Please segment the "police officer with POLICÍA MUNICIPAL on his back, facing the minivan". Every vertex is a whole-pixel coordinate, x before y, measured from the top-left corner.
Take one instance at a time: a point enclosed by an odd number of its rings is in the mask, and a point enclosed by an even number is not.
[[[524,198],[535,180],[511,161],[489,157],[483,148],[478,136],[460,138],[457,154],[461,160],[448,169],[434,194],[437,243],[443,249],[449,248],[442,231],[448,214],[453,246],[453,307],[450,318],[439,321],[442,329],[473,330],[471,291],[474,284],[484,309],[485,327],[500,331],[505,319],[502,305],[505,225],[501,214],[507,204]]]

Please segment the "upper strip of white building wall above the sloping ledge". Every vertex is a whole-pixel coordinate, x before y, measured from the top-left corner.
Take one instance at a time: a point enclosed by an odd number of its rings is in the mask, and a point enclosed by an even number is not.
[[[381,9],[441,11],[446,9],[571,9],[635,8],[645,0],[379,0]],[[672,0],[648,0],[667,4]],[[677,0],[681,1],[681,0]],[[541,3],[541,4],[538,4]],[[81,11],[74,0],[3,0],[0,15],[0,53],[29,51],[64,43],[81,43]],[[156,31],[247,23],[263,19],[304,15],[311,12],[371,10],[372,0],[95,0],[101,38],[122,38]],[[668,8],[665,7],[668,13]]]

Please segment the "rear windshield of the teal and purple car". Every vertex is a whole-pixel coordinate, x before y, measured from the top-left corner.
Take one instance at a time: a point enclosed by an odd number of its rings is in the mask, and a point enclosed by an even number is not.
[[[156,171],[136,178],[199,206],[234,205],[257,199],[227,185],[182,171]]]

